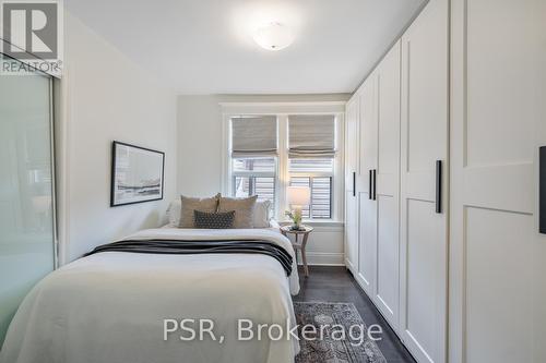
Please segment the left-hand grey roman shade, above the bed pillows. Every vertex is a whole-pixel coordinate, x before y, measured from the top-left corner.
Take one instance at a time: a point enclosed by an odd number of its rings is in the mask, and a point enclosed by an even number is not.
[[[232,156],[276,156],[276,117],[232,118]]]

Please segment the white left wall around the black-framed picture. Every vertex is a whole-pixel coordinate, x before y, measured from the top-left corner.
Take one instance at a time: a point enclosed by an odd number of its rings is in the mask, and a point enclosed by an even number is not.
[[[61,263],[159,226],[177,189],[175,93],[68,12],[64,34],[57,130]],[[165,152],[164,201],[109,207],[114,140]]]

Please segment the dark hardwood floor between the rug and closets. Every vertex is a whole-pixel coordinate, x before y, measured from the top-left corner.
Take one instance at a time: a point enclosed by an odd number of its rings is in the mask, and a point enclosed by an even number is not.
[[[358,283],[345,267],[310,266],[309,273],[309,277],[306,278],[300,269],[299,280],[301,290],[297,297],[294,297],[294,301],[323,301],[355,304],[367,326],[378,324],[383,328],[383,339],[377,343],[387,359],[387,362],[415,362],[377,307],[358,287]]]

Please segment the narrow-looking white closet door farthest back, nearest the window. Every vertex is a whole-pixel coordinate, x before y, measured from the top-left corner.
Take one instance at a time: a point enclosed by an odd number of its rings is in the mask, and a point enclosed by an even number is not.
[[[356,176],[358,173],[358,95],[346,106],[345,112],[345,264],[356,276],[358,274],[358,196]]]

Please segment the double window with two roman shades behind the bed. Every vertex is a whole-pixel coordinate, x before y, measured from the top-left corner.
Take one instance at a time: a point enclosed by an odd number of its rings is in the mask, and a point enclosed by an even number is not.
[[[308,186],[304,219],[341,220],[343,109],[330,114],[225,114],[227,168],[224,193],[271,201],[284,220],[286,187]]]

